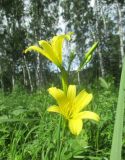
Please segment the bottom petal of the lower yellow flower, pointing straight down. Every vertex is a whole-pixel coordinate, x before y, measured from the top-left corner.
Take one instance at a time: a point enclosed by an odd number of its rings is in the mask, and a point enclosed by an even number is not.
[[[79,133],[82,130],[82,126],[83,126],[83,122],[79,118],[69,120],[69,129],[71,133],[74,135],[79,135]]]

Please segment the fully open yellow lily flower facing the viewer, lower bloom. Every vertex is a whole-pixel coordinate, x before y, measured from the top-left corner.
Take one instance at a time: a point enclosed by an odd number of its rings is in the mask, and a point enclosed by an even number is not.
[[[49,88],[48,91],[56,99],[58,106],[50,106],[47,111],[63,115],[68,120],[69,129],[72,134],[79,135],[84,119],[99,121],[100,118],[96,113],[82,111],[92,100],[92,94],[82,90],[76,95],[75,85],[69,85],[67,95],[56,87]]]

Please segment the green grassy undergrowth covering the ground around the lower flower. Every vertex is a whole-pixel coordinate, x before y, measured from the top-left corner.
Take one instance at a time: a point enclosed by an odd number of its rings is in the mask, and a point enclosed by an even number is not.
[[[118,89],[112,82],[106,82],[111,84],[108,89],[99,82],[91,87],[94,99],[89,107],[100,114],[101,121],[98,125],[86,121],[78,137],[66,132],[61,140],[61,160],[109,158]],[[18,88],[9,95],[0,93],[0,157],[3,160],[57,158],[59,116],[46,112],[50,104],[55,102],[44,89],[32,94]]]

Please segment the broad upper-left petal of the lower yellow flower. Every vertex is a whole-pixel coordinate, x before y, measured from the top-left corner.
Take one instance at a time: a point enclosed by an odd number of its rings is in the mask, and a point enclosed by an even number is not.
[[[59,105],[63,105],[66,101],[65,93],[56,87],[51,87],[48,89],[49,94],[52,95]]]

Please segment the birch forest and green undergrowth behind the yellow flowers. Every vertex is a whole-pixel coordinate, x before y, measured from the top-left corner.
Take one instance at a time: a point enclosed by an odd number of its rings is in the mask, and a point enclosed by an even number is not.
[[[52,117],[46,119],[44,114],[53,102],[46,89],[52,85],[60,86],[59,71],[40,54],[23,52],[41,39],[49,40],[56,34],[67,32],[74,32],[74,35],[71,42],[64,44],[63,58],[67,62],[70,52],[76,56],[70,80],[79,88],[85,87],[93,92],[95,99],[90,107],[104,118],[96,127],[98,132],[90,129],[90,132],[86,131],[84,142],[80,141],[84,146],[91,146],[89,150],[81,151],[79,144],[79,152],[69,154],[73,145],[78,143],[73,141],[62,157],[77,159],[77,154],[85,155],[86,159],[96,157],[96,160],[109,157],[125,49],[124,0],[0,0],[2,160],[27,160],[29,157],[36,160],[42,156],[47,159],[52,150],[55,152],[54,142],[45,143],[45,139],[47,134],[50,136],[57,117],[47,130],[45,122]],[[97,41],[99,45],[90,63],[84,70],[76,72],[85,53]],[[64,65],[67,67],[66,63]],[[87,126],[91,127],[89,123]],[[43,136],[45,139],[41,136],[44,130],[47,130]],[[46,151],[48,143],[51,147]]]

